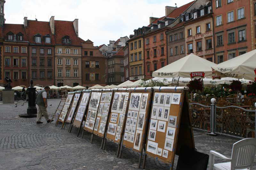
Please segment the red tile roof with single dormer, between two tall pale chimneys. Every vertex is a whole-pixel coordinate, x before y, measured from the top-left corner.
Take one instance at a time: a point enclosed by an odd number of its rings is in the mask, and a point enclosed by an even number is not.
[[[55,20],[54,25],[56,44],[62,44],[62,38],[67,35],[71,40],[71,43],[68,45],[81,46],[80,40],[76,36],[73,21]],[[65,43],[63,43],[63,45],[65,45]]]

